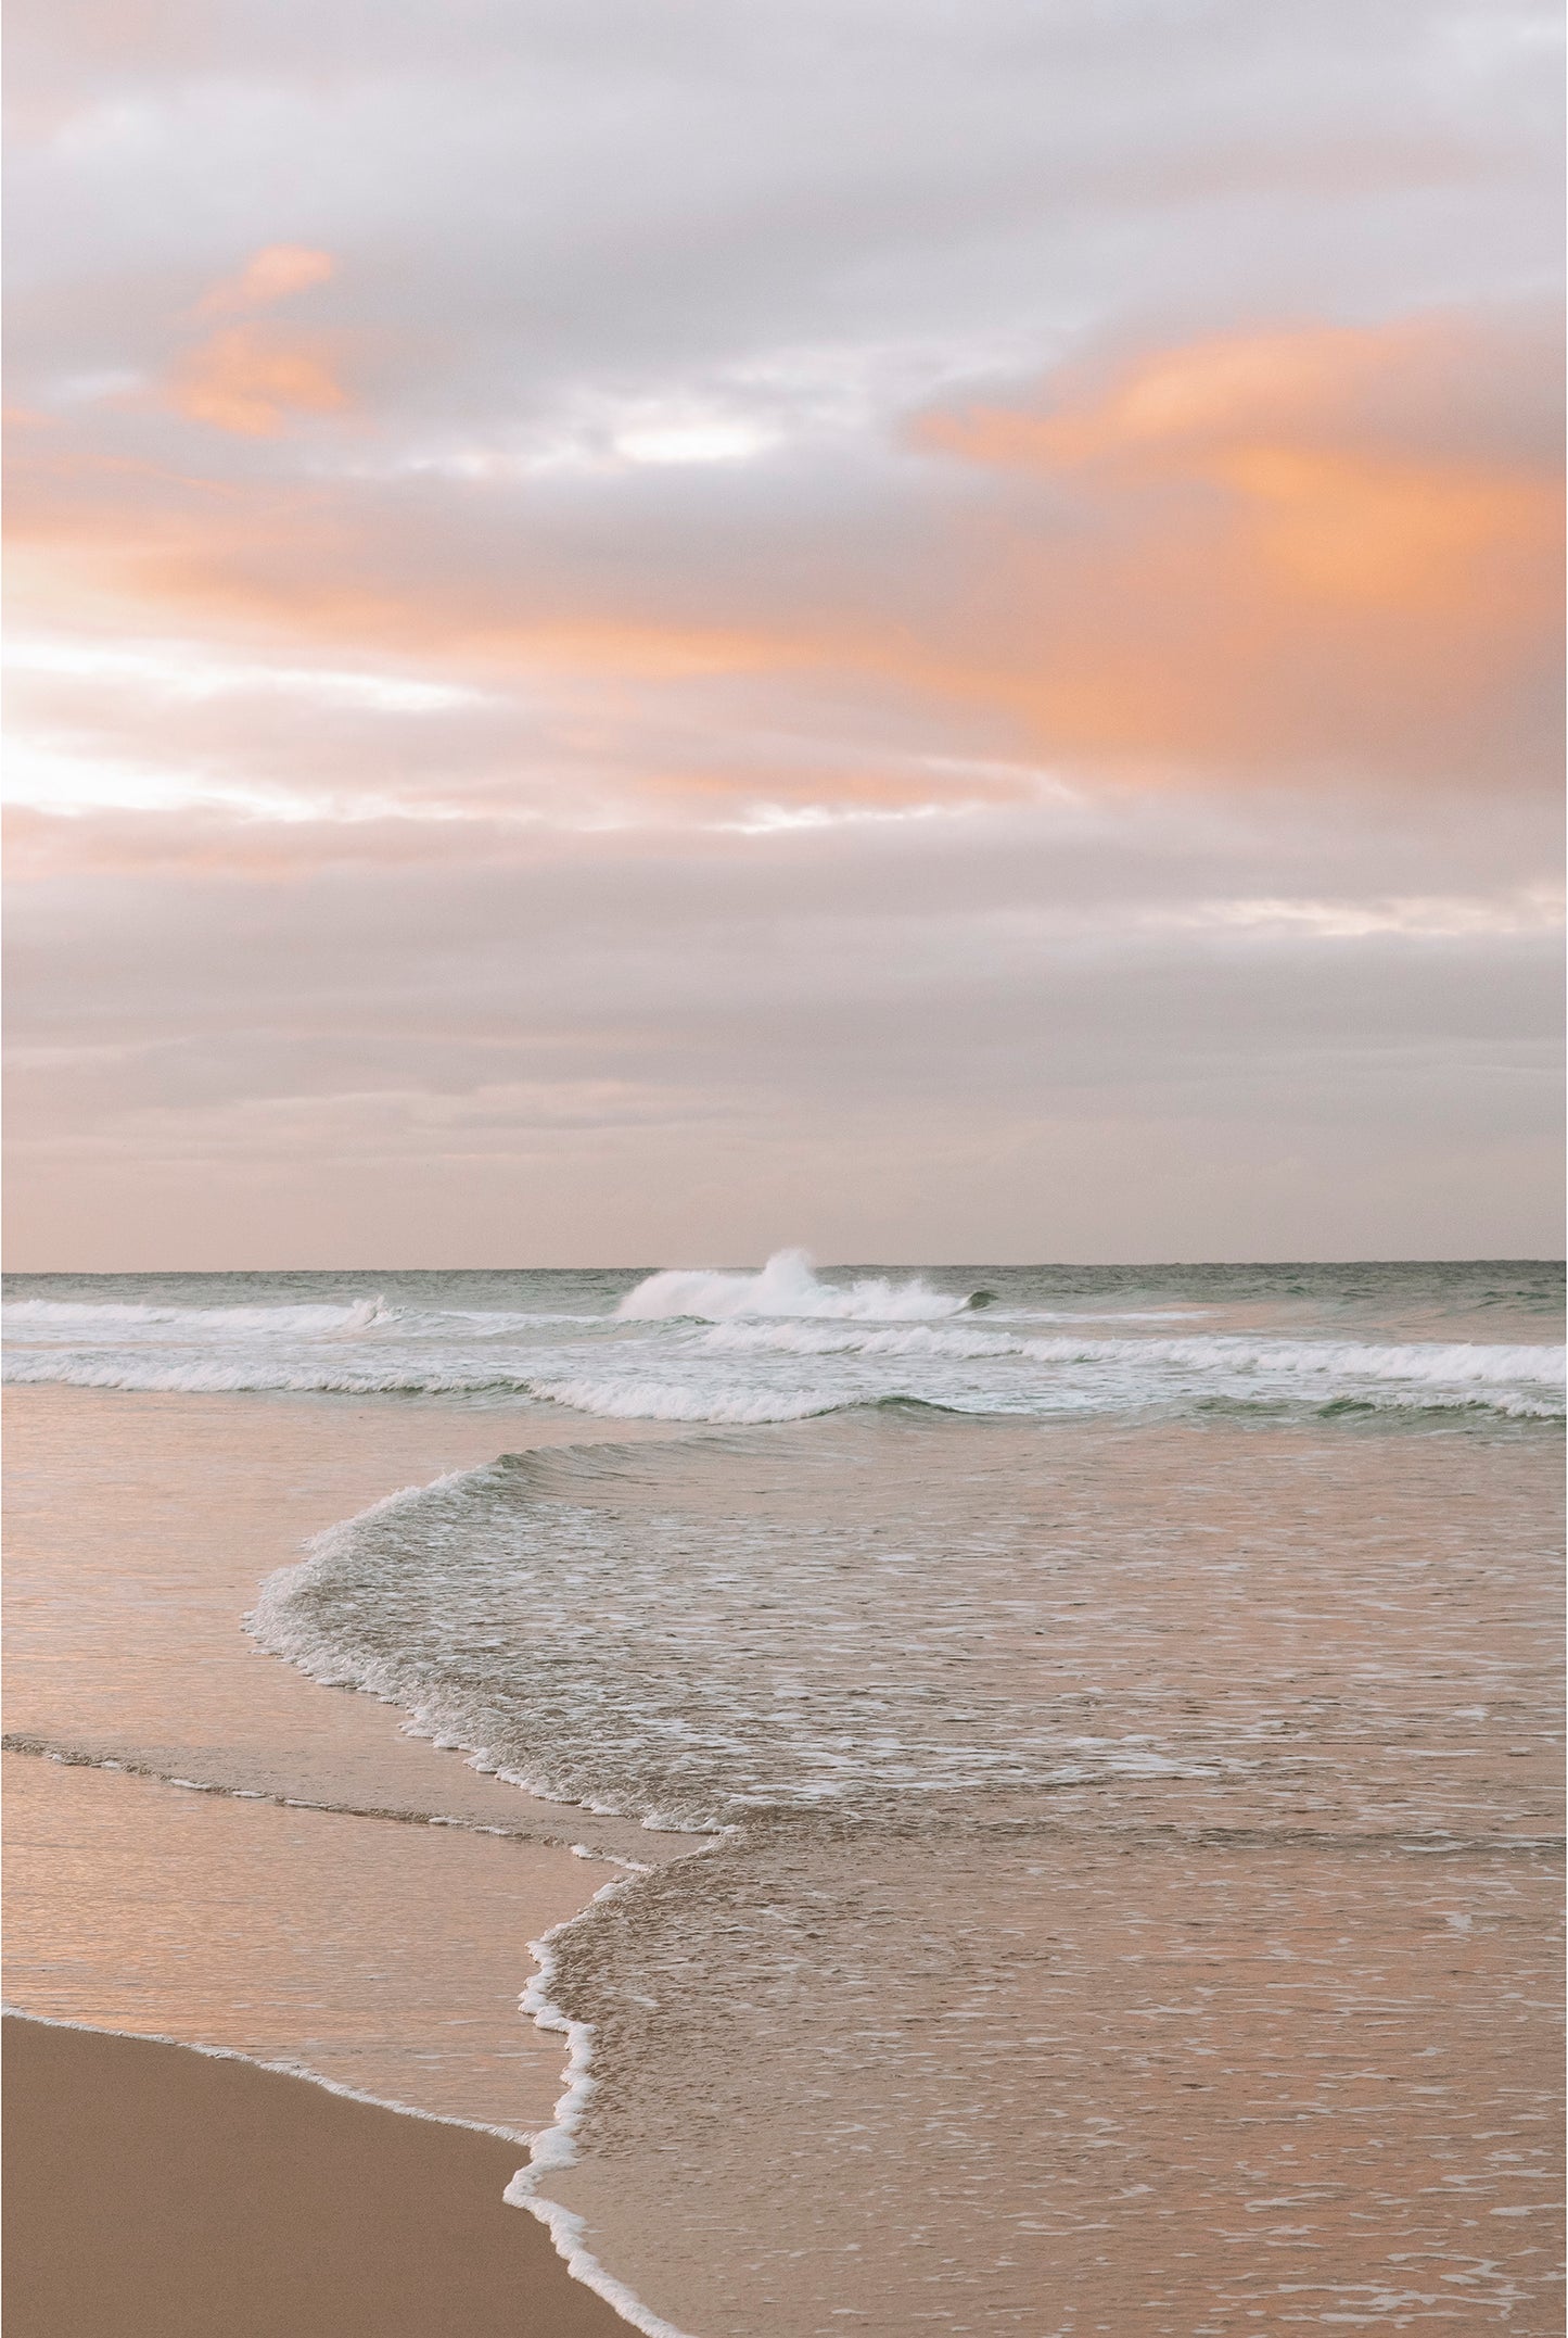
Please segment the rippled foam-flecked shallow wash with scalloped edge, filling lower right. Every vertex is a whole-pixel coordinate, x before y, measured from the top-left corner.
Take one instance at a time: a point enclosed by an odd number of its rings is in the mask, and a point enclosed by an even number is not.
[[[1554,1487],[1531,1431],[846,1414],[470,1473],[262,1632],[731,1828],[551,1978],[549,2195],[678,2326],[1547,2329]]]

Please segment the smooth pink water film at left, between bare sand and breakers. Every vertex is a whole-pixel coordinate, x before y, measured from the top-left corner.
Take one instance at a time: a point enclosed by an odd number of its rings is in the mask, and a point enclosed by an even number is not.
[[[7,1393],[9,2004],[549,2121],[528,1941],[622,1873],[568,1845],[689,1842],[528,1803],[241,1630],[313,1529],[491,1447],[451,1407]]]

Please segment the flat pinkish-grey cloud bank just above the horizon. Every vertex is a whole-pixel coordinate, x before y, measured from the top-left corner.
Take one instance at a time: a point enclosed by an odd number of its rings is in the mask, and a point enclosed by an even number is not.
[[[1318,809],[706,839],[35,816],[28,1258],[217,1258],[236,1211],[255,1256],[367,1265],[780,1227],[825,1256],[1545,1244],[1531,839],[1500,856],[1477,816],[1461,916],[1388,891],[1435,837],[1369,853]]]

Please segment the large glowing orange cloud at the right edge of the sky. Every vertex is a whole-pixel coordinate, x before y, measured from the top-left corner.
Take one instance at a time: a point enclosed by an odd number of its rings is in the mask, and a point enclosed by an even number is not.
[[[1084,755],[1510,753],[1559,636],[1542,362],[1465,320],[1316,327],[923,416],[916,444],[1031,482],[981,519],[953,685]]]

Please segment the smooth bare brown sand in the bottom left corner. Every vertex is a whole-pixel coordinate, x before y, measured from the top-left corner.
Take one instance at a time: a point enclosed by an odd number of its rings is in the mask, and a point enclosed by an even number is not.
[[[7,2015],[5,2153],[7,2338],[626,2338],[493,2135]]]

